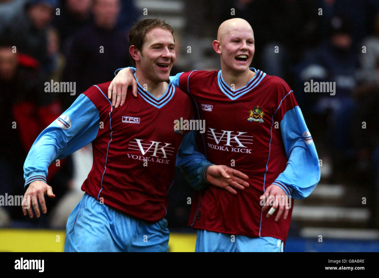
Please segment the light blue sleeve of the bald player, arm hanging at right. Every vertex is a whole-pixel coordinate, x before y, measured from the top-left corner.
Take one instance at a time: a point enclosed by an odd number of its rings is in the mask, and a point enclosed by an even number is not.
[[[299,106],[288,110],[280,122],[288,162],[273,182],[294,199],[304,199],[320,180],[320,167],[315,143],[305,124]]]

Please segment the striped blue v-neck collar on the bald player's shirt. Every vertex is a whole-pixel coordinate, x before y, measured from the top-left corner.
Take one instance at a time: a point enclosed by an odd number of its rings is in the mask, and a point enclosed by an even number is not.
[[[250,92],[252,89],[254,89],[266,76],[266,73],[264,73],[261,70],[256,70],[255,68],[250,68],[250,70],[253,70],[255,72],[254,77],[250,79],[250,81],[247,82],[245,86],[235,91],[233,91],[232,88],[230,88],[230,86],[226,84],[224,79],[222,79],[222,74],[220,70],[217,74],[217,83],[221,92],[223,92],[228,98],[234,100],[234,99],[239,98],[240,96],[243,96],[247,92]]]

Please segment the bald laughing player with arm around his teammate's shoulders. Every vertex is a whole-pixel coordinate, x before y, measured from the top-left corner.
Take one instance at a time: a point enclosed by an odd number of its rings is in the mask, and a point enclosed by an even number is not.
[[[246,20],[223,22],[213,48],[220,71],[194,70],[170,81],[196,100],[207,159],[230,163],[251,186],[238,195],[215,187],[196,191],[189,219],[198,229],[196,251],[283,251],[293,199],[309,196],[319,182],[315,144],[287,83],[249,68],[255,48]],[[135,91],[130,69],[118,75],[108,88],[116,106],[128,85]]]

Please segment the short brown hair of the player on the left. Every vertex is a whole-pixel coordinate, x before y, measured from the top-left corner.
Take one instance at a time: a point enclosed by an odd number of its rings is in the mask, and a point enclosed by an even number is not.
[[[132,29],[129,32],[129,47],[134,45],[139,51],[142,49],[142,45],[145,42],[146,33],[153,30],[154,28],[162,28],[171,32],[172,37],[174,37],[174,30],[172,27],[165,21],[161,19],[143,19],[138,22],[135,22]],[[175,42],[175,39],[174,39]],[[130,55],[130,61],[136,65],[136,61]]]

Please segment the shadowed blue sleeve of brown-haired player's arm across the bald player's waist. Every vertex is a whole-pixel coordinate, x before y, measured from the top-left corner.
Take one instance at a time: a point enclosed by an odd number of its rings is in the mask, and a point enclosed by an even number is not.
[[[196,190],[203,190],[210,183],[205,180],[208,167],[214,165],[199,152],[196,146],[196,130],[184,135],[176,155],[176,166],[182,170],[188,183]]]

